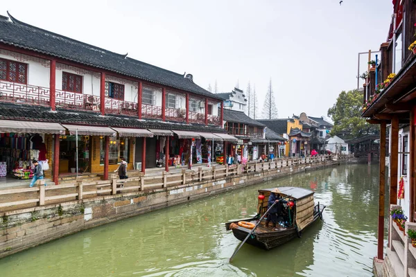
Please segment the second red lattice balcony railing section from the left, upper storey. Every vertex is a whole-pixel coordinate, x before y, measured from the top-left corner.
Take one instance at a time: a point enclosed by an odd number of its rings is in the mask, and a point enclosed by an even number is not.
[[[100,111],[100,97],[83,93],[60,91],[56,89],[55,104],[57,108]]]

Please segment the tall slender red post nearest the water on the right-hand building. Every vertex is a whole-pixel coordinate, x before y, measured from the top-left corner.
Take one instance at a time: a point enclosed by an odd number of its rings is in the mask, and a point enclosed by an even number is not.
[[[380,124],[379,227],[377,232],[377,258],[379,260],[383,260],[384,246],[385,125],[385,121]]]

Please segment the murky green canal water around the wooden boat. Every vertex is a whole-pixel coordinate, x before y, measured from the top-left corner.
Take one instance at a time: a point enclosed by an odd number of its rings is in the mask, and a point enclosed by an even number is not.
[[[82,231],[0,260],[0,276],[372,276],[378,165],[305,172]],[[300,186],[325,204],[283,246],[239,244],[227,220],[256,212],[257,190]]]

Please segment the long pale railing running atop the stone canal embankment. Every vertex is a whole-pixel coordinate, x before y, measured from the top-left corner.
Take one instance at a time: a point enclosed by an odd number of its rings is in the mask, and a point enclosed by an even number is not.
[[[116,195],[124,192],[160,190],[183,186],[189,183],[196,185],[200,182],[214,180],[220,181],[227,177],[236,175],[248,175],[252,172],[264,172],[270,170],[280,170],[280,168],[291,167],[295,165],[311,165],[322,161],[338,161],[348,159],[348,156],[339,156],[334,159],[334,155],[325,155],[307,158],[282,158],[275,161],[251,161],[245,165],[236,164],[232,166],[211,166],[211,168],[202,166],[198,170],[184,170],[181,172],[169,174],[162,172],[162,175],[139,176],[129,179],[116,179],[116,175],[110,176],[107,181],[86,182],[83,179],[76,179],[75,184],[62,184],[58,186],[44,186],[44,180],[37,181],[37,187],[34,188],[15,188],[0,190],[0,197],[7,195],[8,198],[21,199],[25,196],[28,199],[17,201],[7,201],[0,198],[0,211],[5,207],[14,208],[23,205],[24,208],[29,206],[44,206],[45,204],[56,204],[73,199],[84,199],[87,197],[96,197],[104,193]],[[36,195],[34,195],[36,193]]]

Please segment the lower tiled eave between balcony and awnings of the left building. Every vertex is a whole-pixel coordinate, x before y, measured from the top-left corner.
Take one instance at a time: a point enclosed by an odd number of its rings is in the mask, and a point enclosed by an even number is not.
[[[0,119],[27,120],[37,122],[74,123],[80,125],[97,125],[110,127],[135,127],[140,129],[177,129],[193,132],[225,133],[220,126],[205,126],[200,124],[173,123],[160,120],[139,120],[129,116],[101,116],[99,113],[88,111],[51,111],[47,107],[26,105],[0,105]]]

